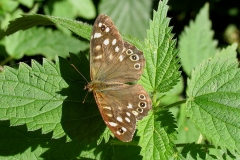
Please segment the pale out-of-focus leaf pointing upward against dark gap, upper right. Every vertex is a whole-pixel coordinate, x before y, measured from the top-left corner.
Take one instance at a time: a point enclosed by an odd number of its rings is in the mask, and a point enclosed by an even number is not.
[[[213,40],[214,33],[211,30],[208,12],[209,5],[206,3],[196,20],[190,22],[179,38],[179,56],[183,70],[188,76],[194,67],[217,52],[217,42]]]

